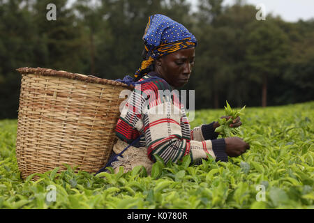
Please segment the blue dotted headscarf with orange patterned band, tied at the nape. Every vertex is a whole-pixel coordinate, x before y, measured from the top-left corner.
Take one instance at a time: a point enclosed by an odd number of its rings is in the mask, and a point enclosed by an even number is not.
[[[197,40],[186,27],[165,15],[151,15],[143,35],[147,59],[135,72],[137,78],[158,56],[164,56],[180,49],[196,47]]]

